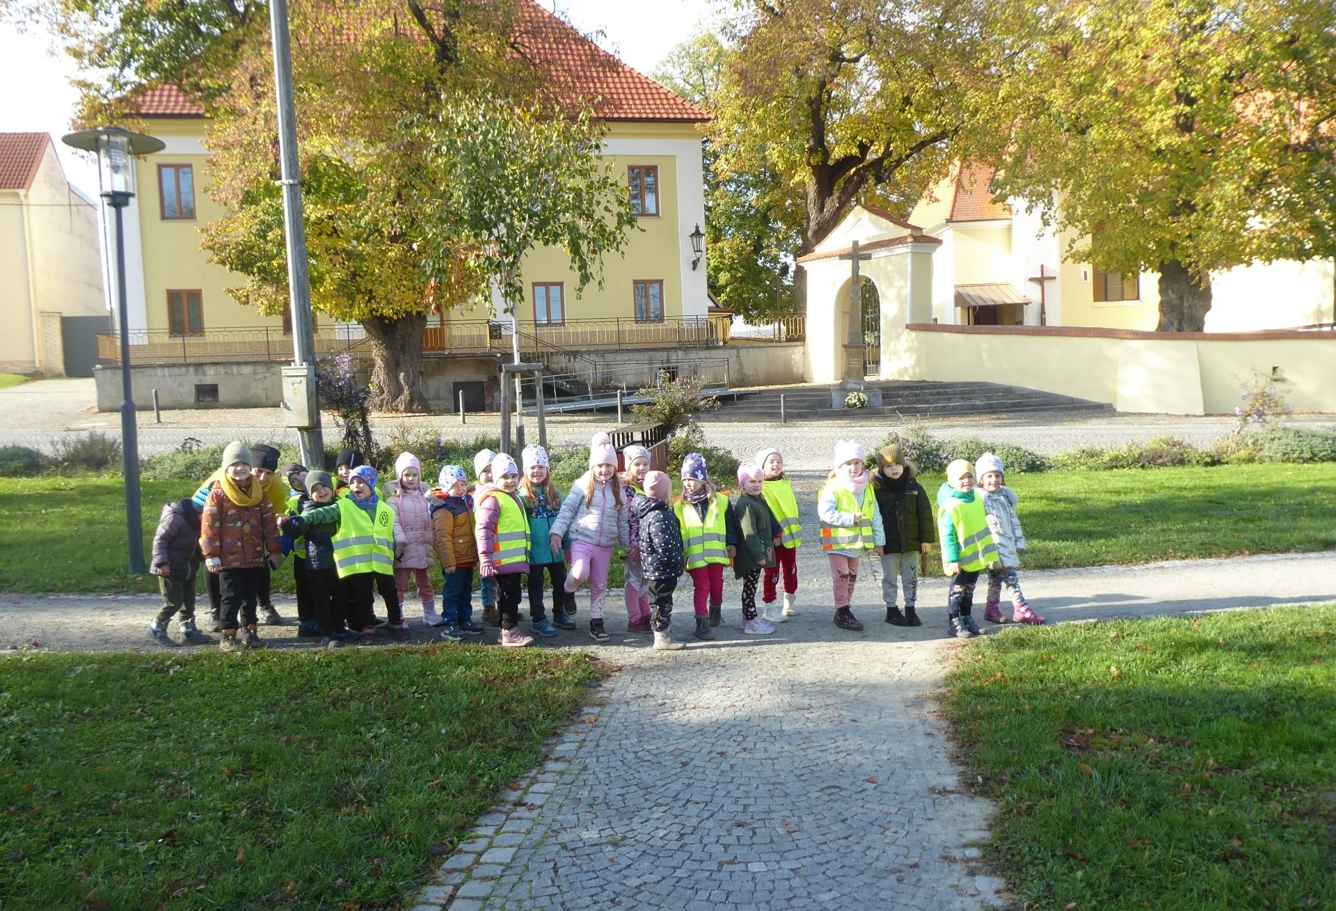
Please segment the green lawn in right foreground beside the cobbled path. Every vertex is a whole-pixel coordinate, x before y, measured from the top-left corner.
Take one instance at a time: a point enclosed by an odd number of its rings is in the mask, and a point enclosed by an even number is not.
[[[1224,584],[1224,580],[1222,580]],[[1336,606],[1029,628],[963,651],[947,709],[1029,908],[1336,896]]]

